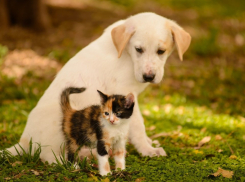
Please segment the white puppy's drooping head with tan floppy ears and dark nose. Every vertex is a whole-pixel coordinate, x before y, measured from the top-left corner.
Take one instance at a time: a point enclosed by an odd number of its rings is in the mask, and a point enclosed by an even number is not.
[[[132,16],[115,27],[111,34],[118,57],[123,52],[131,56],[135,79],[142,83],[159,83],[174,47],[183,60],[191,42],[190,35],[179,25],[154,13]]]

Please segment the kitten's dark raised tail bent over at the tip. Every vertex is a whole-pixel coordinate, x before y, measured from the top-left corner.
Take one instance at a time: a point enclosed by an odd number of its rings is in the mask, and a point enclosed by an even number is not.
[[[71,108],[70,105],[70,99],[69,99],[69,95],[70,94],[75,94],[75,93],[82,93],[86,90],[86,88],[82,87],[82,88],[75,88],[75,87],[69,87],[66,88],[62,94],[61,94],[61,108],[62,108],[62,112],[64,115],[67,114],[67,112],[72,111],[73,109]]]

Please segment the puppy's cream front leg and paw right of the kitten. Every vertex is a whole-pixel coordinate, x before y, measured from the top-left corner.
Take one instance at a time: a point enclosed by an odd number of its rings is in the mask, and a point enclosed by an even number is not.
[[[144,119],[140,113],[138,102],[135,102],[134,113],[130,118],[129,140],[143,156],[166,156],[163,148],[154,148],[148,142],[145,132]]]

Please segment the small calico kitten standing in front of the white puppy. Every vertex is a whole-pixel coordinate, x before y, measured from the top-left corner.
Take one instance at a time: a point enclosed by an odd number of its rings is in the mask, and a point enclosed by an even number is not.
[[[107,96],[98,91],[101,105],[92,105],[83,110],[70,106],[69,95],[81,93],[85,88],[67,88],[61,95],[63,112],[62,130],[66,136],[68,160],[75,160],[75,152],[86,145],[97,148],[101,175],[110,173],[108,151],[113,150],[116,169],[125,169],[125,145],[128,135],[129,118],[133,113],[134,95]]]

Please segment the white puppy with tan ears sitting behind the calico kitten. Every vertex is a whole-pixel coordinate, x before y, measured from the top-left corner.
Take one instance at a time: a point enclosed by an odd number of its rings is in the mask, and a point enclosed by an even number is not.
[[[135,98],[149,83],[159,83],[168,56],[177,48],[179,58],[190,45],[191,37],[175,22],[154,13],[140,13],[109,26],[101,37],[89,44],[58,73],[31,111],[19,144],[28,149],[32,138],[41,144],[41,159],[55,162],[64,143],[61,130],[60,94],[68,86],[86,87],[73,94],[71,104],[82,109],[99,104],[97,90],[106,94],[133,93]],[[164,156],[162,148],[153,148],[146,136],[144,120],[136,100],[130,121],[129,140],[143,156]],[[19,145],[15,145],[20,150]],[[16,155],[14,146],[8,149]],[[80,155],[87,155],[82,149]]]

